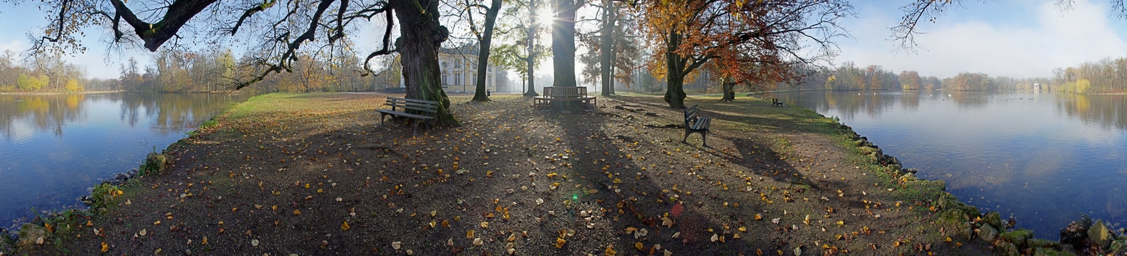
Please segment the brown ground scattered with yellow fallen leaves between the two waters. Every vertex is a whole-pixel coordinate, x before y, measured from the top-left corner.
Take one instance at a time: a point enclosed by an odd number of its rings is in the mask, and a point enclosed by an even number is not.
[[[99,214],[29,254],[988,254],[940,230],[935,195],[880,178],[833,121],[689,99],[712,148],[658,97],[591,112],[455,97],[460,127],[380,123],[388,95],[270,94],[169,147]],[[97,231],[96,231],[97,230]],[[105,251],[105,253],[103,253]]]

